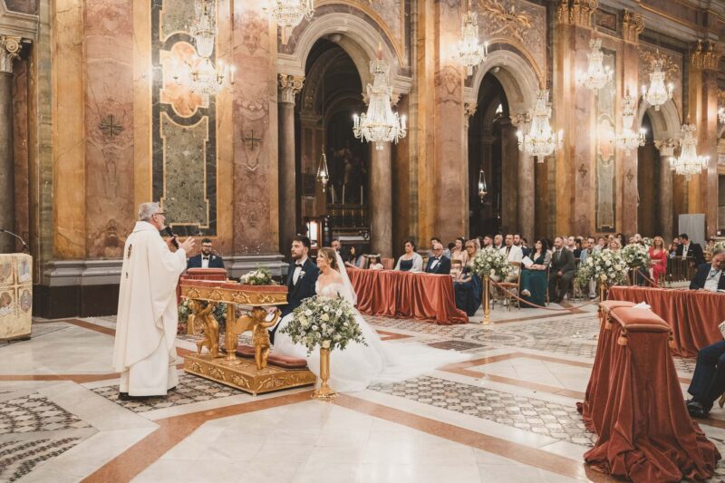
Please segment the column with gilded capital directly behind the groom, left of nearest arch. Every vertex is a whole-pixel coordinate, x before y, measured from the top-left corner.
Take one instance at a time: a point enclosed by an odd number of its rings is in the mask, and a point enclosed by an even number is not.
[[[295,166],[295,95],[302,90],[304,77],[281,73],[279,87],[279,249],[289,252],[297,233],[297,188]]]

